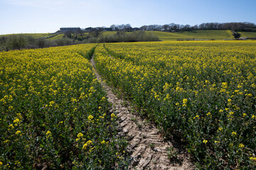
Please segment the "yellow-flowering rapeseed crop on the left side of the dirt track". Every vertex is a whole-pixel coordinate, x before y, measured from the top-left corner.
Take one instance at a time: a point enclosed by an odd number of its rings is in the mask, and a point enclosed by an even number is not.
[[[112,169],[127,143],[88,59],[95,45],[0,52],[0,169]],[[114,113],[112,113],[114,114]]]

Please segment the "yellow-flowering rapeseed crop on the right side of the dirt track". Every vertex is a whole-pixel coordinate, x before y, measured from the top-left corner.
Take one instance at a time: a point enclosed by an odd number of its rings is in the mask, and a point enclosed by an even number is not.
[[[198,169],[255,169],[255,54],[255,41],[112,43],[95,62]]]

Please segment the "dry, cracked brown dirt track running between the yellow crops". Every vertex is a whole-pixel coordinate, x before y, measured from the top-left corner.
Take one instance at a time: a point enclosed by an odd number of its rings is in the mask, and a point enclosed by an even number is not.
[[[127,152],[132,158],[129,169],[194,169],[188,154],[175,148],[171,141],[164,141],[159,130],[135,113],[131,113],[131,106],[122,105],[123,101],[114,95],[110,86],[102,81],[100,74],[95,68],[95,61],[90,60],[93,72],[100,81],[105,91],[107,99],[112,103],[110,112],[115,113],[119,122],[119,135],[126,136],[129,146]],[[171,159],[168,158],[168,149],[173,148]]]

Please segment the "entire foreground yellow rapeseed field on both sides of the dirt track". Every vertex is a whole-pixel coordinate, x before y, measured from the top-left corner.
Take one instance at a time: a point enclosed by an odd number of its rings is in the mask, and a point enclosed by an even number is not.
[[[166,140],[186,146],[198,169],[255,169],[255,45],[166,41],[0,52],[1,166],[127,169],[128,144],[93,73],[94,52],[106,83]]]

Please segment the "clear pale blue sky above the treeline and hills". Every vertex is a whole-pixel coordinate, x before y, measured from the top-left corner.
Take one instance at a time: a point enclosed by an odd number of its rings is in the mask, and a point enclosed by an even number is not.
[[[0,35],[60,27],[256,23],[256,0],[0,0]]]

